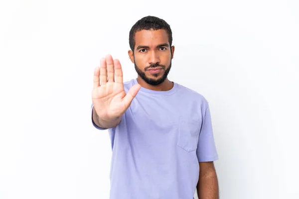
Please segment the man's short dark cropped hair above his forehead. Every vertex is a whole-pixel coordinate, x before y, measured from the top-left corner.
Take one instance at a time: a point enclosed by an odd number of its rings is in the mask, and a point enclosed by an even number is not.
[[[159,30],[164,29],[168,33],[168,42],[171,47],[172,44],[172,31],[169,26],[169,24],[164,21],[163,19],[160,19],[156,16],[145,16],[138,20],[131,28],[130,34],[129,34],[129,44],[130,48],[134,53],[135,48],[135,33],[139,32],[141,30]],[[171,48],[170,48],[171,49]]]

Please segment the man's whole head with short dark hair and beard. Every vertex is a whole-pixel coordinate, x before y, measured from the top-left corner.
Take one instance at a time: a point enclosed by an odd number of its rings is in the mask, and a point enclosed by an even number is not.
[[[143,17],[131,28],[129,44],[129,57],[138,75],[152,86],[163,83],[174,52],[168,23],[155,16]]]

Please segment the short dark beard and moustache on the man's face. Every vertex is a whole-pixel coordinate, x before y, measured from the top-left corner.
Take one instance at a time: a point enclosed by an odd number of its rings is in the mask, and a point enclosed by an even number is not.
[[[160,77],[159,79],[152,79],[152,78],[149,78],[146,76],[145,72],[143,72],[137,65],[136,65],[136,62],[135,62],[135,58],[134,58],[134,65],[135,65],[135,70],[137,72],[137,74],[149,85],[151,86],[157,86],[161,83],[163,83],[166,78],[167,78],[167,75],[170,71],[170,68],[171,68],[171,60],[170,60],[170,64],[169,66],[167,67],[167,69],[165,70],[165,66],[164,65],[160,65],[160,64],[152,64],[150,65],[149,67],[146,67],[145,68],[145,71],[149,68],[155,68],[155,67],[162,67],[162,70],[164,70],[164,74],[162,75],[162,77]],[[154,77],[158,77],[159,74],[152,74]]]

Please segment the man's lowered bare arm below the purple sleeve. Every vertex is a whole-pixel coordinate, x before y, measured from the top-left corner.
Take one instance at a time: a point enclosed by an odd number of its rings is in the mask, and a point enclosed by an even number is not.
[[[198,199],[219,199],[219,187],[214,162],[199,162]]]

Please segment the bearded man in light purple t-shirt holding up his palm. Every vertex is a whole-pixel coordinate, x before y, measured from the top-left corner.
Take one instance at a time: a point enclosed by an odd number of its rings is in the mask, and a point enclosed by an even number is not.
[[[218,199],[218,159],[207,100],[167,79],[170,26],[147,16],[133,25],[128,54],[137,79],[123,83],[111,55],[94,71],[92,122],[112,146],[110,199]]]

